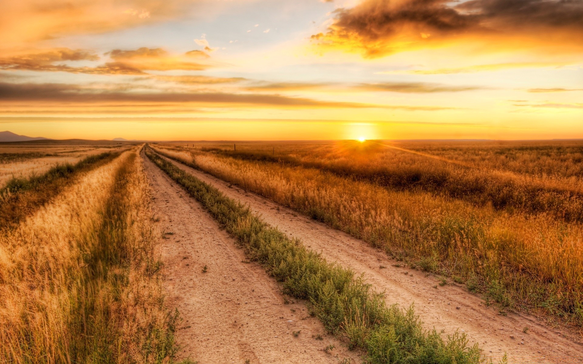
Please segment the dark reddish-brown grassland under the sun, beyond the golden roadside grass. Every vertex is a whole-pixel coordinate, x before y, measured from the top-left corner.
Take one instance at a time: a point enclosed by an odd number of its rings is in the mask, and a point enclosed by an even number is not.
[[[546,164],[538,168],[532,167],[534,158],[522,156],[522,161],[531,163],[526,164],[530,169],[505,164],[501,158],[481,162],[472,158],[475,153],[482,157],[499,156],[498,150],[487,153],[461,148],[465,151],[462,154],[459,153],[459,147],[458,153],[454,153],[455,149],[451,147],[447,153],[440,154],[436,153],[437,148],[434,147],[430,152],[436,154],[429,154],[426,149],[415,147],[415,144],[412,147],[415,149],[380,142],[367,142],[364,145],[343,142],[335,150],[312,150],[312,153],[307,153],[305,150],[293,149],[278,155],[271,151],[241,148],[237,151],[218,148],[203,150],[244,160],[318,168],[391,189],[422,190],[479,206],[491,205],[500,210],[517,209],[530,214],[544,212],[567,221],[583,221],[583,183],[579,179],[583,172],[574,168],[576,161],[581,160],[583,147],[575,149],[579,153],[573,152],[570,160],[547,160]],[[510,150],[503,149],[508,159],[512,156]],[[528,150],[535,156],[539,155],[536,153],[550,153],[543,147]],[[566,167],[565,164],[570,162],[573,166]]]

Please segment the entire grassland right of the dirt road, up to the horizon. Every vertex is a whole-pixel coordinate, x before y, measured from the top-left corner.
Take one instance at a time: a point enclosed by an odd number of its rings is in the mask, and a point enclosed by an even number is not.
[[[367,143],[158,150],[503,306],[583,324],[581,146]]]

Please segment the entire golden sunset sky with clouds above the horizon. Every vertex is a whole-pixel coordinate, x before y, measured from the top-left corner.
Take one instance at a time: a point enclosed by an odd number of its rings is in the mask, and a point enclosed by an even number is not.
[[[583,0],[20,0],[0,129],[54,139],[583,138]]]

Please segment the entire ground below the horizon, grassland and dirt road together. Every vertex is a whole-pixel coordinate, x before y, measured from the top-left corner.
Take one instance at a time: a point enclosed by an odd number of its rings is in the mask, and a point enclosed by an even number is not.
[[[583,361],[581,142],[0,156],[1,362]]]

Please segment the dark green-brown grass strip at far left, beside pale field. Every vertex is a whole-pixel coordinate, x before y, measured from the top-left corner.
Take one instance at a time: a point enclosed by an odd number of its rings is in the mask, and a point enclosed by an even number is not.
[[[60,164],[40,176],[12,178],[0,189],[0,229],[15,227],[24,217],[58,195],[81,172],[107,164],[121,152],[89,156],[76,164]]]

